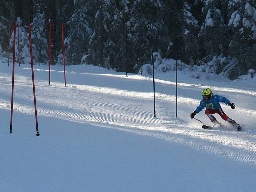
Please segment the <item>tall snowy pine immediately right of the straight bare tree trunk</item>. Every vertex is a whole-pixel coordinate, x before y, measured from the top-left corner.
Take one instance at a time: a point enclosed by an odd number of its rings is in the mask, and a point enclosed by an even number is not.
[[[125,24],[127,35],[128,26],[126,20],[129,14],[127,4],[129,2],[123,0],[117,2],[103,1],[103,26],[105,30],[103,53],[105,65],[110,68],[116,68],[117,71],[125,70]],[[128,36],[126,36],[126,39],[128,44]],[[131,63],[130,59],[127,56],[128,65]]]

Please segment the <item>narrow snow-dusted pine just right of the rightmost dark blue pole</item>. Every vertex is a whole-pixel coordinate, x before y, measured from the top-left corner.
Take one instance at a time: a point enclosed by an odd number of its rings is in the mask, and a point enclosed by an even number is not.
[[[184,5],[181,14],[182,23],[182,40],[183,46],[180,46],[180,50],[184,50],[183,60],[190,65],[196,64],[198,49],[197,34],[199,32],[198,21],[193,17],[191,13],[191,5],[184,0]]]

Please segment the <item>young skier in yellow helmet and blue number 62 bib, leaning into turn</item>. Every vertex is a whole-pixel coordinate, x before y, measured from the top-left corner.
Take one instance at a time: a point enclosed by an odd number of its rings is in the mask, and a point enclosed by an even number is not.
[[[212,94],[212,91],[211,91],[210,88],[204,89],[204,91],[202,92],[202,95],[203,95],[203,99],[200,101],[200,104],[196,108],[196,110],[193,113],[191,113],[191,115],[190,115],[191,119],[194,118],[194,116],[197,113],[199,113],[200,111],[202,111],[205,107],[206,108],[205,114],[209,117],[209,119],[213,123],[214,127],[218,127],[218,126],[221,125],[217,121],[217,119],[214,116],[212,116],[212,114],[218,113],[222,117],[222,119],[224,119],[225,121],[227,121],[228,123],[233,125],[237,129],[237,131],[239,131],[241,129],[241,126],[239,124],[237,124],[234,120],[230,119],[224,113],[224,111],[222,110],[219,102],[226,103],[226,105],[229,105],[232,109],[235,109],[234,103],[231,103],[225,97],[222,97],[220,95]]]

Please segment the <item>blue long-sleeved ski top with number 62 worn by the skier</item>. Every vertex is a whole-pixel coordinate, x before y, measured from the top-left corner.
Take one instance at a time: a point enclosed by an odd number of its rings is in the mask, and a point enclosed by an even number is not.
[[[196,108],[195,111],[196,111],[196,113],[199,113],[200,111],[202,111],[204,109],[204,107],[207,109],[216,111],[217,109],[221,108],[219,102],[226,103],[226,105],[228,105],[228,103],[230,103],[230,101],[226,97],[212,94],[212,98],[209,101],[202,99],[200,101],[199,106]]]

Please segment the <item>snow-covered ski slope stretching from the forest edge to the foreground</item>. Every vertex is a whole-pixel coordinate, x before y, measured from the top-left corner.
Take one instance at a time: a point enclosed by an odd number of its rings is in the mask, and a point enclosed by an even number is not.
[[[255,79],[230,81],[203,73],[118,73],[91,65],[34,66],[40,137],[36,136],[29,65],[0,62],[0,191],[248,191],[256,190]],[[196,78],[195,78],[196,77]],[[255,77],[256,78],[256,77]],[[190,119],[202,90],[227,97],[225,113],[243,126],[204,130]],[[210,124],[204,111],[196,118]]]

